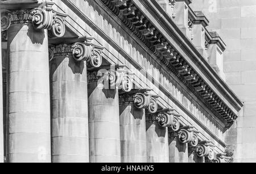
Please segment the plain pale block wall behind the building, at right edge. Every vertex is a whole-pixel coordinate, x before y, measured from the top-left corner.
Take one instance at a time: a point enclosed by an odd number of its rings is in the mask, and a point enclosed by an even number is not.
[[[235,162],[256,161],[256,1],[195,0],[193,10],[203,10],[227,47],[224,53],[226,83],[245,103],[226,143],[235,150]]]

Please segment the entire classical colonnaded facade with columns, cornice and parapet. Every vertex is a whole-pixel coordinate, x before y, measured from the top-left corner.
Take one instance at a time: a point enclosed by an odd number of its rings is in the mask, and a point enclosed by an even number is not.
[[[191,3],[0,1],[1,162],[232,162],[243,104]]]

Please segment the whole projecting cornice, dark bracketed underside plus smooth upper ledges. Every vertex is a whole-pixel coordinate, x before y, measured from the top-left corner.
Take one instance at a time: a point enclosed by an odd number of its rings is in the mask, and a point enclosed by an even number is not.
[[[179,28],[156,1],[101,1],[226,125],[226,128],[233,124],[242,107],[241,101],[218,77],[195,46],[179,32]],[[158,24],[152,22],[149,14],[154,16]],[[159,28],[159,25],[163,28]],[[169,32],[170,36],[164,35],[162,29]],[[172,37],[175,43],[172,43],[169,37]],[[187,55],[180,53],[180,49]],[[191,61],[195,64],[192,65]]]

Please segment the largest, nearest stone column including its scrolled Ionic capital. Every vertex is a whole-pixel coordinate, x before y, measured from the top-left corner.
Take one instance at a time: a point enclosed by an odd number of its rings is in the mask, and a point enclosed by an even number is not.
[[[33,4],[35,6],[35,4]],[[52,4],[2,11],[9,49],[9,162],[51,162],[48,31],[64,35]],[[55,23],[52,26],[53,22]]]

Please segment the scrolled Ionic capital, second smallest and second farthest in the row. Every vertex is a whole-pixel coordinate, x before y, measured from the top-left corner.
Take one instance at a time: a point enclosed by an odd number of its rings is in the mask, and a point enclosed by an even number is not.
[[[214,159],[214,145],[211,145],[209,141],[201,141],[196,147],[196,154],[199,157],[207,157],[209,160]]]

